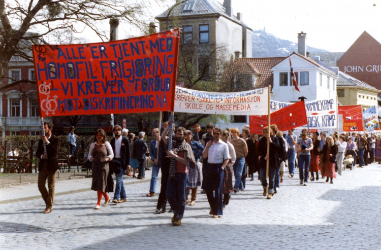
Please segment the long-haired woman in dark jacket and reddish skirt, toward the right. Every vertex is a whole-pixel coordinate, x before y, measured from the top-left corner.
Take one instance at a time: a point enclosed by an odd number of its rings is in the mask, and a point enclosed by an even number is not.
[[[333,184],[332,179],[336,178],[335,174],[335,158],[336,158],[336,145],[334,139],[331,136],[326,138],[326,143],[324,144],[322,155],[323,155],[323,165],[324,165],[324,176],[327,177],[326,182],[331,178],[331,184]]]

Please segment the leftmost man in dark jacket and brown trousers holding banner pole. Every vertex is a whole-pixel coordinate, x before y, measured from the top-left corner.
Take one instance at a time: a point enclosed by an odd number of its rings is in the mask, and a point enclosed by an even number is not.
[[[44,122],[45,136],[41,136],[36,151],[36,157],[40,159],[38,188],[41,196],[45,201],[46,207],[44,213],[50,213],[54,204],[55,189],[55,173],[58,169],[58,142],[57,136],[52,134],[53,124]],[[46,144],[46,152],[44,153],[44,142]],[[46,179],[48,179],[48,189],[46,189]]]

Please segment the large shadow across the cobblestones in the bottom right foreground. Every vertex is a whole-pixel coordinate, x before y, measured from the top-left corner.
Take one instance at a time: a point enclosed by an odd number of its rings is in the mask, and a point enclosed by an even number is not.
[[[259,225],[247,222],[242,212],[242,221],[234,224],[224,222],[224,216],[212,219],[208,215],[184,215],[182,225],[174,227],[170,218],[165,223],[146,225],[115,225],[117,228],[129,229],[142,227],[141,230],[126,233],[123,236],[110,237],[97,244],[87,244],[75,249],[104,249],[110,242],[118,241],[125,249],[141,247],[145,249],[242,249],[247,246],[253,249],[292,248],[292,249],[377,249],[381,245],[381,191],[379,186],[365,186],[354,190],[329,190],[318,199],[339,201],[341,204],[328,213],[323,225]],[[238,197],[235,197],[237,199]],[[374,207],[374,209],[363,209]],[[206,209],[199,208],[199,209]],[[274,217],[276,211],[274,211]],[[313,216],[313,211],[309,215]],[[137,218],[148,221],[163,220],[159,217]],[[194,223],[195,219],[203,223]],[[269,218],[271,219],[271,218]],[[192,221],[192,222],[191,222]],[[269,220],[270,221],[270,220]],[[240,225],[243,223],[242,225]],[[113,228],[112,225],[102,227],[84,227],[82,229],[101,230]],[[359,238],[360,237],[360,238]]]

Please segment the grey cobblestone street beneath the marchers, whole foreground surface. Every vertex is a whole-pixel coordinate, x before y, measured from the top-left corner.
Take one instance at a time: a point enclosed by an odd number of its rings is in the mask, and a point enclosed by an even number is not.
[[[271,200],[262,196],[256,175],[247,179],[219,219],[209,216],[206,195],[199,193],[180,227],[172,226],[169,212],[154,215],[160,182],[154,197],[145,196],[149,182],[128,185],[126,203],[100,210],[93,209],[94,191],[56,196],[48,215],[41,198],[1,204],[0,248],[381,249],[381,165],[347,169],[334,184],[320,179],[301,186],[298,172],[287,175]]]

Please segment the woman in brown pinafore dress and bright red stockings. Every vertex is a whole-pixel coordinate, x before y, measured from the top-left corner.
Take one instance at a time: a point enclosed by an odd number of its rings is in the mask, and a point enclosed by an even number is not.
[[[114,158],[110,143],[106,140],[106,133],[103,129],[96,130],[94,142],[90,145],[88,159],[92,162],[92,182],[91,190],[97,191],[98,202],[94,209],[101,208],[102,196],[105,197],[103,206],[111,201],[107,195],[107,177],[109,174],[109,161]]]

